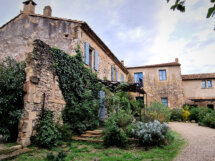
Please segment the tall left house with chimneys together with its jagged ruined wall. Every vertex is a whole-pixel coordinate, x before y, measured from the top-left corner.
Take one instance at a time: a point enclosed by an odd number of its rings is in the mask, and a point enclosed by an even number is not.
[[[71,56],[80,47],[85,65],[101,80],[125,82],[128,70],[86,22],[53,17],[50,6],[44,8],[43,15],[35,14],[37,4],[33,0],[23,4],[23,11],[0,27],[0,61],[10,56],[26,62],[26,94],[18,142],[27,146],[41,108],[54,111],[57,119],[66,104],[50,47]]]

